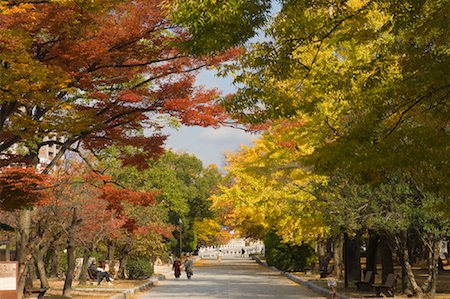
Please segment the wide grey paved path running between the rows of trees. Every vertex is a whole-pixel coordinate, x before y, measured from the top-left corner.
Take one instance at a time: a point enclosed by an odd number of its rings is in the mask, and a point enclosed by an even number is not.
[[[191,280],[167,275],[138,299],[151,298],[325,298],[250,259],[201,260]]]

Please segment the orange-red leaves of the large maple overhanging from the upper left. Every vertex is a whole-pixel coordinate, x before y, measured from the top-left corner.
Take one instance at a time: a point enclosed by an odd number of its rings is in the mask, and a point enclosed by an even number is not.
[[[18,4],[7,0],[6,5]],[[232,59],[239,50],[211,57],[184,53],[180,45],[188,36],[168,23],[160,5],[156,0],[38,1],[0,14],[0,31],[21,32],[32,59],[70,81],[69,91],[33,104],[42,115],[28,122],[27,130],[41,132],[41,123],[50,124],[66,138],[66,148],[77,142],[94,150],[142,146],[152,154],[124,158],[126,164],[142,164],[162,151],[164,137],[155,115],[167,113],[185,125],[217,126],[225,120],[217,92],[195,88],[194,74]],[[144,128],[155,135],[135,138],[133,133]],[[0,144],[21,138],[1,136]]]

